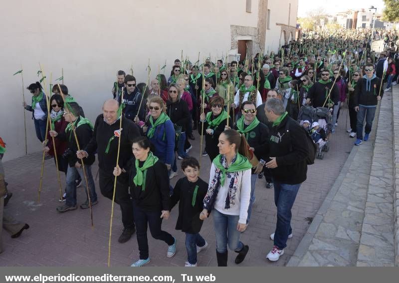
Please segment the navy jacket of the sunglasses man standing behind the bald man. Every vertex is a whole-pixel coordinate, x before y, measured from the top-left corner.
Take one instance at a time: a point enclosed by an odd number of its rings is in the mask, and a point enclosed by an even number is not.
[[[140,93],[139,89],[135,87],[134,91],[128,94],[126,88],[123,90],[123,103],[125,103],[125,108],[123,108],[123,113],[125,117],[129,120],[133,120],[137,115],[141,121],[146,118],[146,101],[141,103],[140,111],[139,105],[143,95]],[[119,103],[121,103],[122,96],[119,97]]]

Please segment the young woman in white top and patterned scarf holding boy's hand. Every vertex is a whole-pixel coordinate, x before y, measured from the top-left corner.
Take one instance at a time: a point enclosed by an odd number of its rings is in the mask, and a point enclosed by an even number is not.
[[[240,264],[249,247],[240,242],[246,229],[251,195],[251,168],[244,135],[225,130],[219,136],[219,155],[212,161],[208,191],[203,199],[200,219],[212,211],[216,236],[217,266],[227,266],[227,245],[238,253],[235,263]]]

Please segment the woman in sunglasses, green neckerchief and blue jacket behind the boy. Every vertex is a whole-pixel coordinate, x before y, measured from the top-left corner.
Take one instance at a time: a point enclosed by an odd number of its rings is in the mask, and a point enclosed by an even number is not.
[[[164,112],[164,100],[155,96],[148,103],[150,118],[143,132],[155,147],[155,156],[165,163],[168,171],[172,169],[175,160],[175,128],[168,115]]]

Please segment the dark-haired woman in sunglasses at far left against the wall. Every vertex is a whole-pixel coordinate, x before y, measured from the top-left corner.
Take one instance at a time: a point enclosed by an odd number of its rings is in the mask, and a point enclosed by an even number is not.
[[[32,119],[36,131],[36,137],[40,142],[43,142],[46,137],[46,121],[47,121],[47,102],[46,96],[42,91],[41,85],[38,81],[31,83],[27,89],[32,94],[32,104],[27,105],[25,101],[22,102],[25,110],[32,112]],[[49,158],[51,158],[49,156]],[[47,158],[48,159],[48,158]]]

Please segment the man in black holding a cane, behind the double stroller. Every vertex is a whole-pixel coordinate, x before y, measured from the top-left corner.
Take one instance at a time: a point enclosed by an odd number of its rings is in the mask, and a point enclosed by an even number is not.
[[[330,94],[330,96],[329,96]],[[330,79],[330,72],[327,69],[321,71],[321,79],[316,81],[309,89],[306,98],[307,103],[313,107],[333,107],[338,103],[339,90],[333,80]]]

